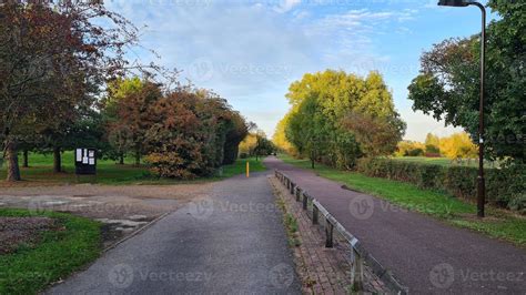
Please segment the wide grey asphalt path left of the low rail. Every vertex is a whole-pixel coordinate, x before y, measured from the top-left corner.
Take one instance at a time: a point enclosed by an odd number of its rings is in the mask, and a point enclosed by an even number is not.
[[[216,184],[50,294],[300,294],[266,173]]]

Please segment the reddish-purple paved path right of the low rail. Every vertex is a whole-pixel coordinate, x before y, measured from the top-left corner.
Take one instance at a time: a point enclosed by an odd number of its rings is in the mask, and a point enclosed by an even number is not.
[[[524,250],[343,190],[275,157],[265,165],[316,197],[409,293],[526,294]]]

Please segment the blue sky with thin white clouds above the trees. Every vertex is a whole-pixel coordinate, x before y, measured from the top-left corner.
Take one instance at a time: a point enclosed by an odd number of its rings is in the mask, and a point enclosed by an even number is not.
[[[287,112],[289,85],[326,69],[384,75],[407,123],[405,139],[459,131],[412,110],[407,87],[434,43],[481,31],[476,7],[437,0],[111,0],[141,29],[143,62],[212,89],[267,135]]]

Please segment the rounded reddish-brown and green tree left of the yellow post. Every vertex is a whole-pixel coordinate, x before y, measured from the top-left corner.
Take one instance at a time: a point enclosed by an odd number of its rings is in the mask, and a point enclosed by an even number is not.
[[[249,124],[219,95],[180,88],[150,104],[144,132],[146,162],[162,177],[211,175],[235,160]],[[225,160],[226,156],[229,160]]]

